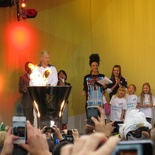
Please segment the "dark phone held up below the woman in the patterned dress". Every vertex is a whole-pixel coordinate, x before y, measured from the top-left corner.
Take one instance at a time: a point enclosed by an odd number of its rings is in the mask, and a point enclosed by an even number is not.
[[[90,125],[94,125],[94,122],[91,120],[91,117],[95,117],[98,119],[98,116],[100,116],[100,112],[97,109],[97,106],[88,106],[87,107],[87,123]]]

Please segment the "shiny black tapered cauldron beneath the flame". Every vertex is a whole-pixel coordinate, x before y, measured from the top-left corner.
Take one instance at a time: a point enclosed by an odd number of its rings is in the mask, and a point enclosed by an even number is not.
[[[39,127],[49,125],[51,120],[59,121],[67,103],[71,86],[28,86],[29,94],[38,105]],[[59,126],[59,125],[58,125]]]

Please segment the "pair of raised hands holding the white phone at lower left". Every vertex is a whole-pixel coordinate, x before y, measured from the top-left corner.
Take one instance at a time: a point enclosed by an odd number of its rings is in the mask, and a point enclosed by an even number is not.
[[[27,150],[31,155],[51,155],[49,152],[46,136],[40,130],[34,128],[29,121],[26,122],[27,143],[20,143],[19,146]],[[12,135],[12,129],[9,128],[1,155],[12,155],[14,150],[13,141],[18,136]]]

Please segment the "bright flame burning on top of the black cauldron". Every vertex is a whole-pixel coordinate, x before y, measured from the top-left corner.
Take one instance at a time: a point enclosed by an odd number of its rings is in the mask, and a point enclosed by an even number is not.
[[[44,73],[39,72],[38,66],[32,63],[29,64],[32,73],[30,74],[30,86],[46,86],[48,82],[48,76],[52,72],[51,70],[46,69]]]

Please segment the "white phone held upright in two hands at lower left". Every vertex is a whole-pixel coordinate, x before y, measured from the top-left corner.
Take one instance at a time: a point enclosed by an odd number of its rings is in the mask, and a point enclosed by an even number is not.
[[[19,137],[14,144],[26,143],[26,117],[14,116],[12,118],[12,134]]]

